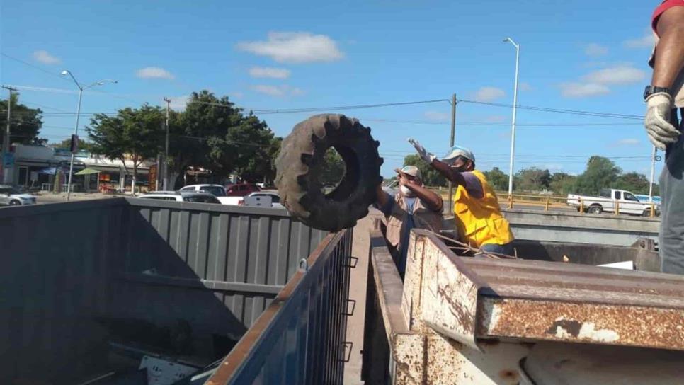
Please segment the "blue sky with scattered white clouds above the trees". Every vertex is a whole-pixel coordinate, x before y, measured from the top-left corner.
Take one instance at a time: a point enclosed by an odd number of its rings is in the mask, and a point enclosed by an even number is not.
[[[341,4],[344,3],[344,4]],[[164,96],[182,108],[207,88],[254,110],[448,99],[642,115],[649,18],[659,1],[4,1],[0,81],[45,111],[43,137],[71,134],[81,83],[88,113]],[[20,62],[21,61],[21,62]],[[65,91],[69,90],[69,91]],[[33,103],[33,104],[32,104]],[[337,112],[330,110],[331,113]],[[372,127],[384,175],[412,153],[448,149],[445,102],[345,111]],[[312,113],[260,115],[279,135]],[[478,168],[508,170],[511,108],[459,103],[456,142]],[[515,168],[581,173],[610,156],[648,175],[640,120],[518,110]]]

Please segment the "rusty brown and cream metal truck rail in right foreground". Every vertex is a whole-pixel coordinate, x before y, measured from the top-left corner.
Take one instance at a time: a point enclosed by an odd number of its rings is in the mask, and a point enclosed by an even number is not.
[[[684,277],[423,249],[422,317],[466,345],[518,338],[684,350]]]

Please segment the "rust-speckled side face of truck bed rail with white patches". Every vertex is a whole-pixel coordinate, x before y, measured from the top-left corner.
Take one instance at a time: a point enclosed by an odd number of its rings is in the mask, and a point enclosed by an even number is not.
[[[518,337],[684,350],[684,310],[486,298],[496,323],[482,337]]]

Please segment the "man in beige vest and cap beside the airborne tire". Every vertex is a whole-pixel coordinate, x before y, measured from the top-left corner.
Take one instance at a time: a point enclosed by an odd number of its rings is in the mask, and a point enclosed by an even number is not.
[[[387,242],[394,248],[392,257],[399,274],[404,277],[411,229],[438,233],[442,229],[443,202],[440,195],[423,186],[418,167],[405,166],[396,171],[399,193],[392,197],[378,185],[376,207],[387,218]]]

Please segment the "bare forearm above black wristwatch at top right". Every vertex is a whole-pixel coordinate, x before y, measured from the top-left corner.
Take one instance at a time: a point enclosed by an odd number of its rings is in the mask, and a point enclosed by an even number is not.
[[[684,6],[665,11],[657,30],[660,41],[651,85],[670,88],[684,68]]]

